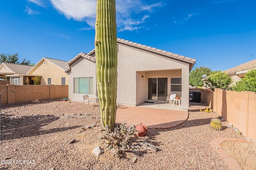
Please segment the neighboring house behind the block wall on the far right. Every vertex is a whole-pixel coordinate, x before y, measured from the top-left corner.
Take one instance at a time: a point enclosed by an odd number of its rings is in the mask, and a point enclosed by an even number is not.
[[[228,73],[228,76],[232,77],[232,79],[234,80],[234,82],[231,85],[233,84],[235,85],[236,82],[244,78],[244,75],[246,72],[252,69],[256,69],[256,59],[249,61],[247,63],[241,64],[239,66],[235,66],[228,70],[225,70],[224,72]]]

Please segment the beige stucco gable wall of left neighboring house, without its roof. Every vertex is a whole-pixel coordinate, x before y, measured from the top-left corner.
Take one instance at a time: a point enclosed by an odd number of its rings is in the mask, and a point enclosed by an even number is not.
[[[41,85],[47,85],[48,78],[51,78],[51,84],[61,85],[61,78],[65,77],[65,85],[68,85],[68,74],[64,72],[58,66],[47,61],[46,65],[44,65],[44,61],[38,63],[38,67],[35,70],[29,72],[31,75],[42,75],[41,77]]]

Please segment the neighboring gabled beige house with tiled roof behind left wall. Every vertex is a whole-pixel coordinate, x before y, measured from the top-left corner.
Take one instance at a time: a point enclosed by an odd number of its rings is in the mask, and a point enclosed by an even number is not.
[[[43,57],[27,74],[41,76],[41,85],[68,85],[68,62]]]

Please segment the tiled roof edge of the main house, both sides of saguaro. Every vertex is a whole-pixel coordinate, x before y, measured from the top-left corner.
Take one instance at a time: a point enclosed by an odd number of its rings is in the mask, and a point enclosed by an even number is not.
[[[117,43],[122,44],[122,45],[127,45],[129,47],[134,47],[134,48],[150,51],[152,53],[157,53],[159,55],[163,55],[164,57],[169,57],[169,58],[172,58],[172,59],[175,59],[175,60],[180,60],[180,61],[183,61],[183,62],[187,62],[187,63],[189,63],[189,70],[190,71],[193,68],[194,64],[196,63],[196,59],[191,59],[191,58],[188,58],[188,57],[185,57],[185,56],[182,56],[182,55],[174,54],[174,53],[164,51],[164,50],[161,50],[161,49],[157,49],[157,48],[154,48],[154,47],[142,45],[142,44],[139,44],[139,43],[134,43],[132,41],[128,41],[128,40],[125,40],[125,39],[118,38]],[[72,62],[74,62],[79,57],[83,57],[83,58],[88,59],[88,60],[95,63],[95,49],[90,51],[88,54],[79,53],[76,57],[71,59],[68,62],[68,64],[70,65]],[[65,72],[68,72],[68,70],[66,70]]]

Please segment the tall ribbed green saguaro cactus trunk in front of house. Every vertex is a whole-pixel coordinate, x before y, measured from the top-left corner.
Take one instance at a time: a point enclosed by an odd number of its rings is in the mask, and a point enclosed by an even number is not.
[[[100,125],[114,129],[116,120],[116,2],[97,0],[95,23],[96,79]]]

